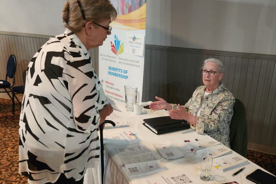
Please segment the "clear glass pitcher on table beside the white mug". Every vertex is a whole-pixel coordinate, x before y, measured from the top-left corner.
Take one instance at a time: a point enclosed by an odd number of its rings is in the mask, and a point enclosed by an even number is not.
[[[125,85],[125,97],[126,97],[126,107],[132,108],[133,110],[133,104],[140,101],[140,94],[139,94],[139,91],[137,91],[137,87]]]

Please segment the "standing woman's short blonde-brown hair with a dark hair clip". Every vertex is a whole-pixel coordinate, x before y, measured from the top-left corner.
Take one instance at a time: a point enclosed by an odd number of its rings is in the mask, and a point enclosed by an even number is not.
[[[108,0],[78,0],[78,2],[68,0],[62,11],[65,27],[74,33],[78,33],[87,21],[98,23],[107,19],[112,21],[117,17],[116,9]]]

